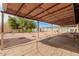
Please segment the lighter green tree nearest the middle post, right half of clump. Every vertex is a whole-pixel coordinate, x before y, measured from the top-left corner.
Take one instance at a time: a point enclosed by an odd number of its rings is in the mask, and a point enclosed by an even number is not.
[[[18,24],[22,31],[32,32],[32,29],[36,28],[36,23],[32,20],[18,17]]]

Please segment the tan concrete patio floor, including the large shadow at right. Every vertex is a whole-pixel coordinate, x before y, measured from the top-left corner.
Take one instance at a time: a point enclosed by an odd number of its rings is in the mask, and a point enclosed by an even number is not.
[[[25,35],[23,35],[22,33],[15,34],[14,37],[19,35],[19,37],[21,36],[27,37],[33,40],[29,42],[22,42],[14,46],[4,48],[4,50],[0,50],[0,55],[2,56],[77,56],[79,55],[79,49],[73,46],[74,44],[73,40],[66,37],[69,36],[68,34],[58,35],[58,34],[49,33],[48,34],[49,36],[47,35],[48,36],[47,37],[45,35],[47,33],[42,33],[42,34],[39,33],[40,39],[38,39],[38,45],[35,40],[37,36],[36,37],[32,36],[34,33],[32,33],[32,35],[29,35],[29,33],[24,33],[24,34]],[[10,35],[12,34],[5,35],[5,38],[8,36],[9,38],[12,38],[12,36]],[[23,41],[25,40],[23,39]],[[7,41],[7,42],[10,42],[11,44],[13,41]],[[21,42],[21,40],[19,42]]]

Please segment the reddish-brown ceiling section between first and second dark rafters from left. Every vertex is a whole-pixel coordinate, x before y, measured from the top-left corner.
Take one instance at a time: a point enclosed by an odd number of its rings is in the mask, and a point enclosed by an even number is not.
[[[32,11],[33,9],[35,9],[39,4],[33,4],[33,3],[25,3],[24,6],[21,8],[21,10],[17,13],[17,15],[20,16],[25,16],[26,14],[28,14],[30,11]]]

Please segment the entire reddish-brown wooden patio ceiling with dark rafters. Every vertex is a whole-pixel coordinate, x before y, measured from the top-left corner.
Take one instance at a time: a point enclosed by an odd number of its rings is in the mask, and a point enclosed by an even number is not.
[[[58,25],[75,24],[71,3],[7,3],[5,13]]]

